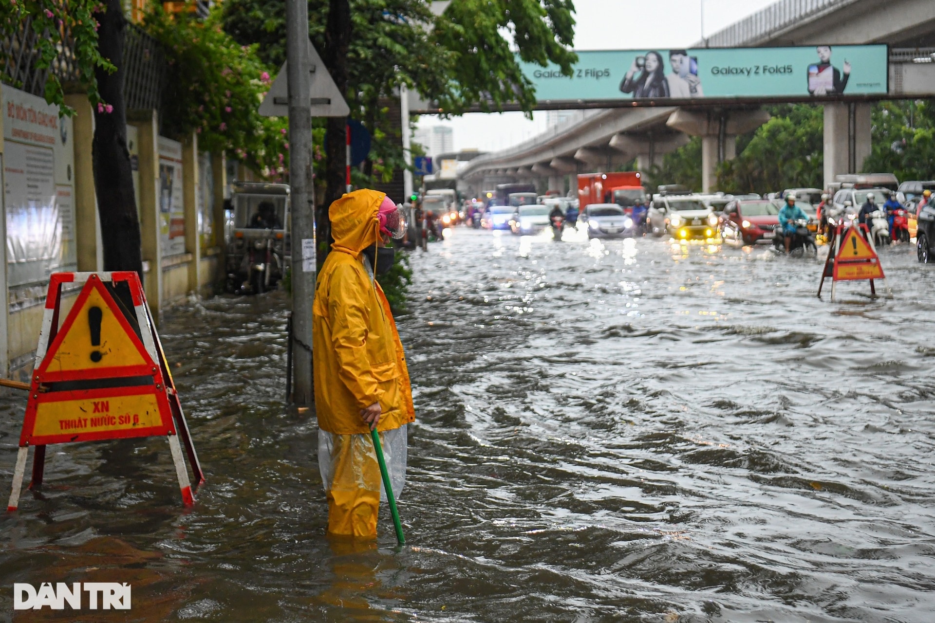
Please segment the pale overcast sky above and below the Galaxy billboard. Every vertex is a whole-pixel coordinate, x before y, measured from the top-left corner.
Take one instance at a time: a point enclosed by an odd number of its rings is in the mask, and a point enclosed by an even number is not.
[[[775,0],[575,0],[576,50],[668,50],[688,48]],[[506,149],[545,130],[545,112],[469,113],[451,120],[424,116],[420,126],[450,125],[454,149]]]

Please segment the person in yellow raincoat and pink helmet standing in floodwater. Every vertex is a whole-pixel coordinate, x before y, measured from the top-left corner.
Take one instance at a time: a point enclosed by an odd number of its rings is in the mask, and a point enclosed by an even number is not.
[[[384,193],[345,194],[328,209],[335,242],[312,305],[318,462],[328,532],[377,535],[381,474],[369,431],[381,445],[394,494],[405,483],[407,424],[414,421],[409,370],[390,305],[374,278],[393,262],[402,212]],[[385,499],[385,493],[383,494]]]

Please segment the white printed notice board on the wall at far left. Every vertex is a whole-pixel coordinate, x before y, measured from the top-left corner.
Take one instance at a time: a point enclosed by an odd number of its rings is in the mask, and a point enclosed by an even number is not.
[[[71,120],[41,97],[3,85],[7,285],[77,267]]]

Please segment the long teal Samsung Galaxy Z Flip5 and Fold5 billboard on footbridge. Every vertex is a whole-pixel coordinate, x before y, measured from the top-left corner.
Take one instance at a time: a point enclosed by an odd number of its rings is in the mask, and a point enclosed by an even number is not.
[[[571,77],[553,64],[522,64],[536,98],[691,100],[887,92],[885,45],[578,52]]]

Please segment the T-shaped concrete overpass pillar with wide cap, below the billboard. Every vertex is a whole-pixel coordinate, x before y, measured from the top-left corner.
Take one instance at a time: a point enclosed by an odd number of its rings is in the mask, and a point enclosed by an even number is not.
[[[701,136],[701,191],[711,192],[717,165],[737,156],[737,135],[755,130],[770,120],[765,110],[676,110],[666,125],[686,135]]]

